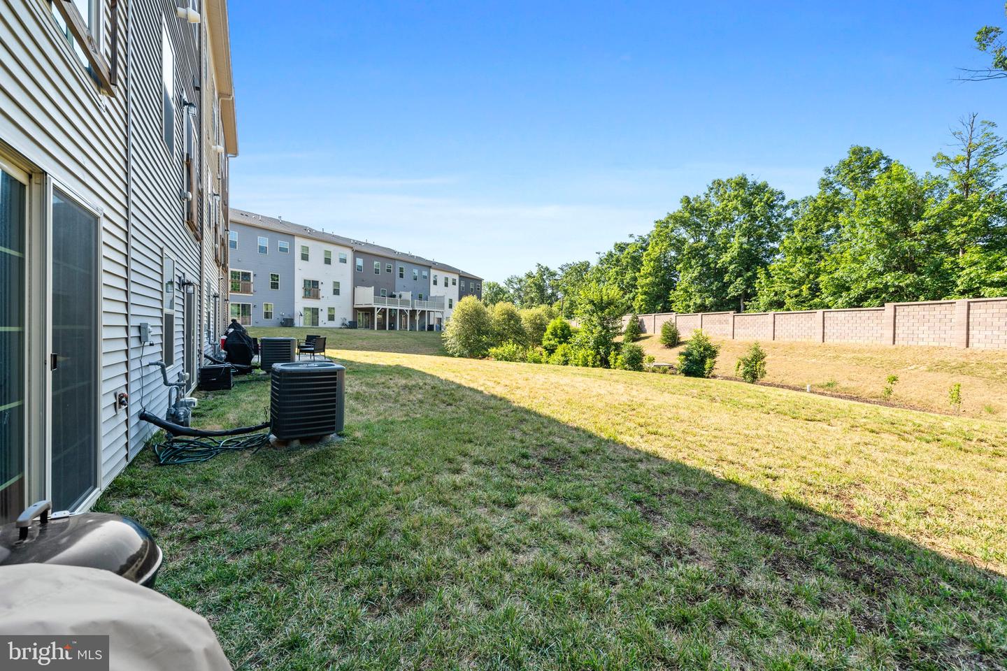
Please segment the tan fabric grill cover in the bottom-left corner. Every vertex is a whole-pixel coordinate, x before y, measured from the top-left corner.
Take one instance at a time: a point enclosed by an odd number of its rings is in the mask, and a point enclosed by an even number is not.
[[[108,634],[113,671],[231,671],[202,617],[101,568],[0,566],[0,634]]]

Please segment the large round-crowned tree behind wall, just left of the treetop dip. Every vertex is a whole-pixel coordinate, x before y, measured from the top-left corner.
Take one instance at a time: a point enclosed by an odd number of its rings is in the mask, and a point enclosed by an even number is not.
[[[671,305],[678,312],[743,311],[776,254],[793,203],[746,175],[716,179],[675,213],[685,241]]]

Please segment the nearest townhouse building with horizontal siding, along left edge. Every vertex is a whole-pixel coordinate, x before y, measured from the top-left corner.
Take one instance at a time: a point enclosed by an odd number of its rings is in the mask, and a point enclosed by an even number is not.
[[[179,7],[179,5],[182,5]],[[225,0],[0,2],[0,521],[88,508],[226,318]]]

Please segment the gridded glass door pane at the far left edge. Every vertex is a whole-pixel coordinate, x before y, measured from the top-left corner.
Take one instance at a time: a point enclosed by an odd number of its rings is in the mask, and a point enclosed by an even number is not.
[[[0,523],[24,508],[27,175],[0,163]]]

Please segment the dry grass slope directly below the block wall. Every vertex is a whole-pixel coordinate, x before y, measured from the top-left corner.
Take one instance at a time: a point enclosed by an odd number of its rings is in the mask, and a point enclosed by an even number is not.
[[[719,340],[720,357],[714,374],[733,377],[734,363],[750,341]],[[668,349],[655,335],[638,341],[658,361],[675,363],[681,347]],[[1007,420],[1007,352],[951,347],[881,347],[830,343],[759,342],[768,354],[766,382],[825,393],[883,399],[888,375],[898,375],[891,402],[937,412]],[[962,385],[961,410],[948,392]]]

